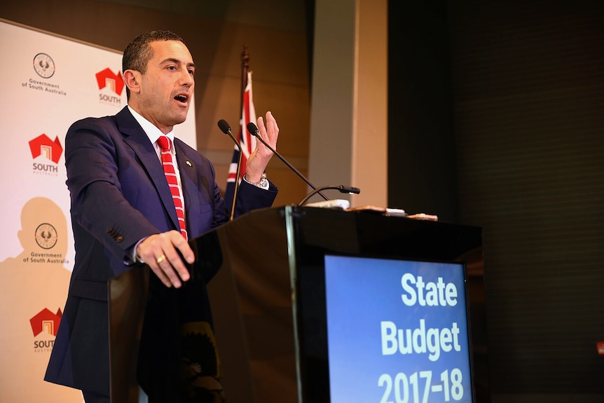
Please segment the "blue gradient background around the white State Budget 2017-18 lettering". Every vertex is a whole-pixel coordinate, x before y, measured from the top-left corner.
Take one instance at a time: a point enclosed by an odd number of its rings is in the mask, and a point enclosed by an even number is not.
[[[437,282],[443,278],[458,291],[456,306],[406,306],[401,300],[404,289],[401,276],[413,273],[423,281]],[[329,350],[329,385],[332,403],[401,402],[394,388],[387,393],[386,385],[378,385],[383,374],[403,373],[409,378],[419,371],[432,371],[431,385],[443,385],[441,373],[448,370],[451,391],[451,371],[460,369],[462,398],[449,395],[448,402],[472,402],[467,310],[464,268],[462,264],[442,264],[416,261],[366,259],[359,257],[325,257],[325,287],[327,301],[327,342]],[[417,329],[420,319],[426,329],[460,328],[460,352],[452,349],[440,352],[436,362],[429,353],[382,354],[380,323],[390,321],[397,329]],[[425,394],[425,378],[418,378],[419,402],[446,402],[443,391],[430,389]],[[438,388],[438,386],[436,387]],[[457,397],[460,397],[457,389]],[[399,392],[399,397],[404,393]],[[414,403],[411,385],[408,403]]]

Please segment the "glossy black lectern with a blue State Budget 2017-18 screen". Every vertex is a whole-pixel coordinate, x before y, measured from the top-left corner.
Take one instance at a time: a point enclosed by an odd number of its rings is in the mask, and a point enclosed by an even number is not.
[[[482,268],[480,228],[287,206],[245,214],[191,246],[191,282],[205,289],[212,279],[229,403],[475,401],[467,271]],[[167,315],[144,312],[149,282],[143,267],[110,283],[114,403],[136,402],[132,363],[153,331],[143,318]]]

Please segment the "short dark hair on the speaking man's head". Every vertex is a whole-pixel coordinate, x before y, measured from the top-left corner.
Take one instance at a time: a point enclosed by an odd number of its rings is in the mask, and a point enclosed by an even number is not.
[[[170,31],[151,31],[137,36],[132,42],[128,43],[122,57],[122,72],[126,70],[140,71],[146,73],[147,64],[153,57],[153,49],[149,45],[156,41],[180,41],[182,38]],[[130,90],[126,87],[126,95],[130,99]]]

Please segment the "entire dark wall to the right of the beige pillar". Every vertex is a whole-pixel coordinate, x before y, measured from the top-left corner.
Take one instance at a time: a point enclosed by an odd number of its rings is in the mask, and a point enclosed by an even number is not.
[[[602,401],[603,4],[390,6],[390,203],[483,228],[493,401]]]

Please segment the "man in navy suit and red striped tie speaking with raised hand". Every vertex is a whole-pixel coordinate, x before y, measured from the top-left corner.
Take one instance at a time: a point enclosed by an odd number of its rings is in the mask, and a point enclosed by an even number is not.
[[[179,36],[143,34],[123,55],[128,106],[115,116],[85,118],[67,132],[76,261],[46,381],[83,390],[87,403],[109,402],[108,280],[144,262],[153,271],[152,285],[176,292],[190,278],[186,264],[195,259],[185,237],[228,221],[212,163],[174,138],[174,125],[184,122],[193,97],[194,73]],[[275,147],[279,129],[270,112],[258,127]],[[162,168],[158,141],[164,135],[173,144],[166,152],[174,160],[186,226],[179,225]],[[273,203],[277,189],[263,176],[272,155],[259,142],[249,156],[235,215]]]

